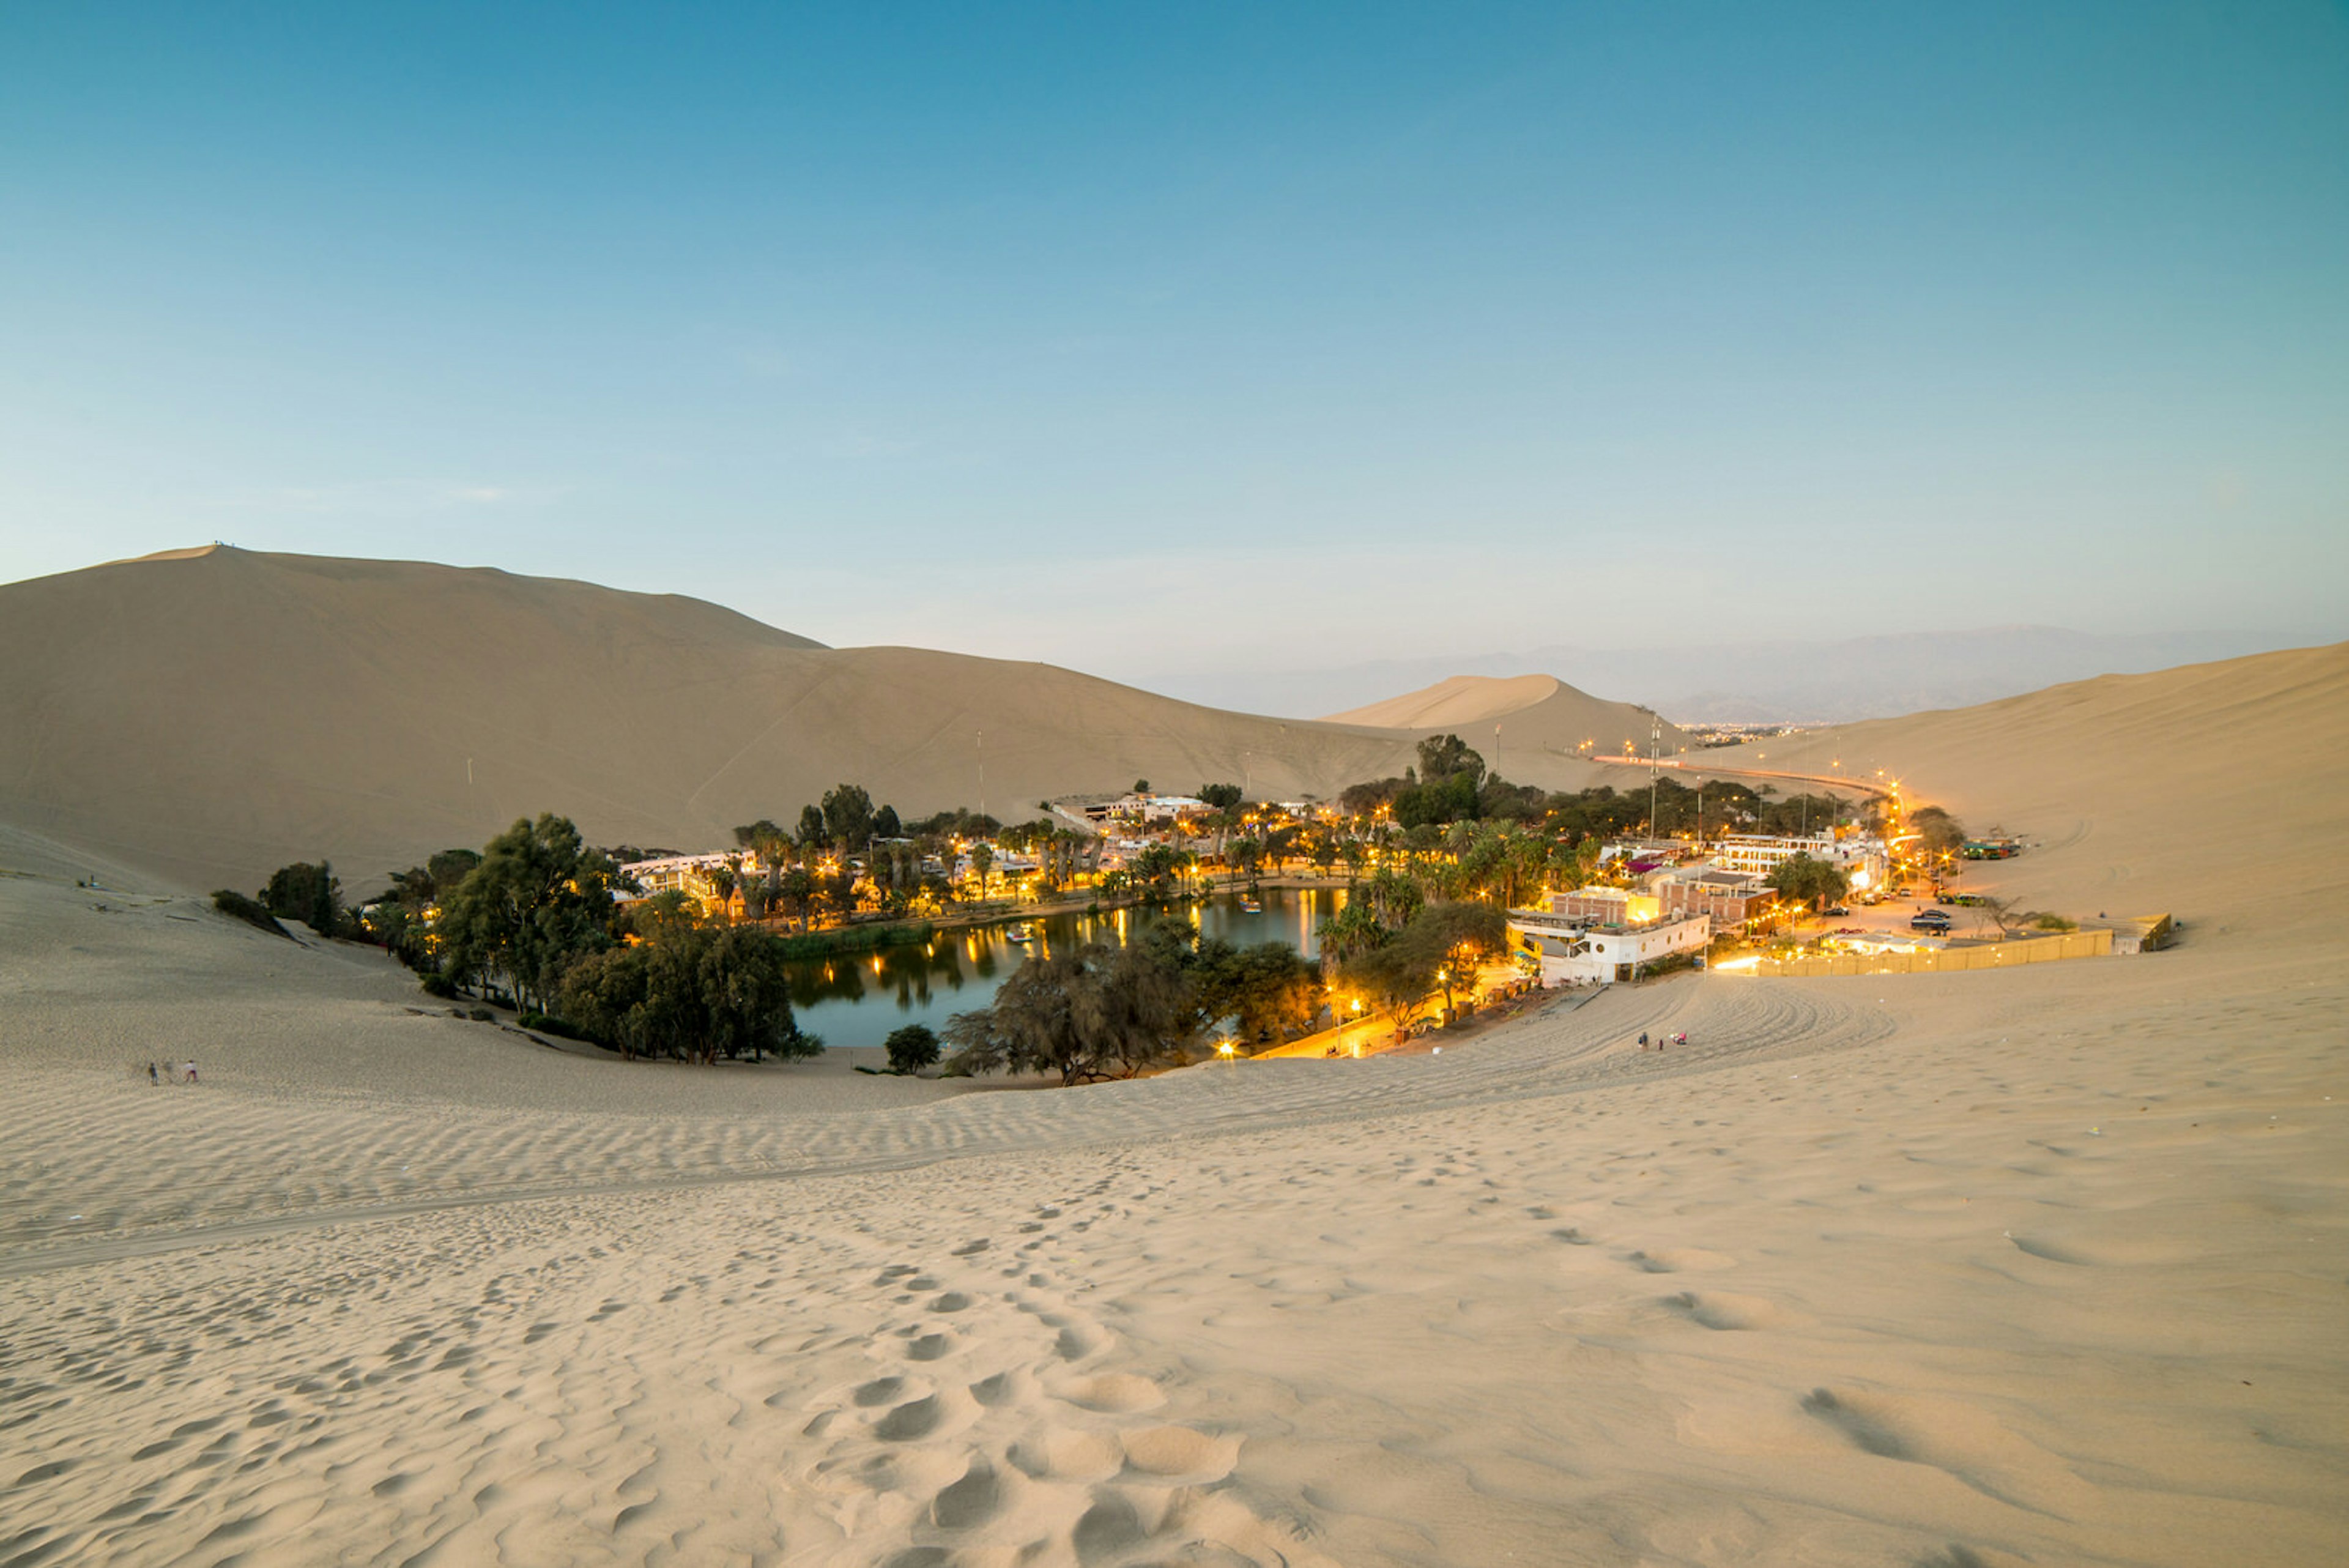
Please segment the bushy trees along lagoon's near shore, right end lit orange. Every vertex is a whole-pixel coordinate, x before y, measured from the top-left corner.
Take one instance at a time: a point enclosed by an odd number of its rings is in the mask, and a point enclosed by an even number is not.
[[[947,1020],[944,1044],[965,1072],[1090,1084],[1182,1060],[1224,1020],[1271,1039],[1308,1030],[1318,1011],[1320,978],[1294,947],[1203,943],[1179,922],[1156,922],[1123,947],[1031,957],[994,1004]]]

